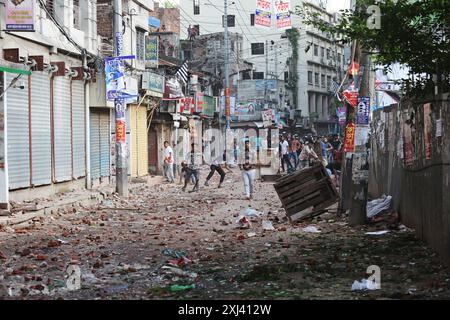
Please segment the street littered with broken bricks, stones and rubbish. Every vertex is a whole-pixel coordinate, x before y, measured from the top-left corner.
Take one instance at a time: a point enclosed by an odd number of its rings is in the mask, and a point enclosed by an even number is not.
[[[290,224],[272,182],[257,181],[248,201],[237,168],[221,189],[218,176],[203,186],[206,174],[198,193],[142,179],[128,200],[108,194],[0,227],[0,299],[450,298],[450,270],[413,230],[352,228],[333,209]],[[239,228],[245,213],[251,225]],[[366,234],[377,230],[389,232]],[[67,289],[69,265],[81,269],[79,290]],[[352,291],[371,265],[381,289]]]

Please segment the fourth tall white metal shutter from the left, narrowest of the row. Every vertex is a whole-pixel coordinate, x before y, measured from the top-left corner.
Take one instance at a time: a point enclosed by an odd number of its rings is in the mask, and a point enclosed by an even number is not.
[[[83,177],[85,161],[84,81],[72,81],[73,176]]]

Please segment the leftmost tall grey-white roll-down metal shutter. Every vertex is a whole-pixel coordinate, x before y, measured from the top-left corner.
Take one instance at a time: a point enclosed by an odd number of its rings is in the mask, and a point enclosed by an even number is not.
[[[6,73],[5,86],[8,87],[16,76]],[[24,89],[11,86],[6,94],[9,189],[30,186],[28,76],[22,75],[17,84],[23,84]]]

